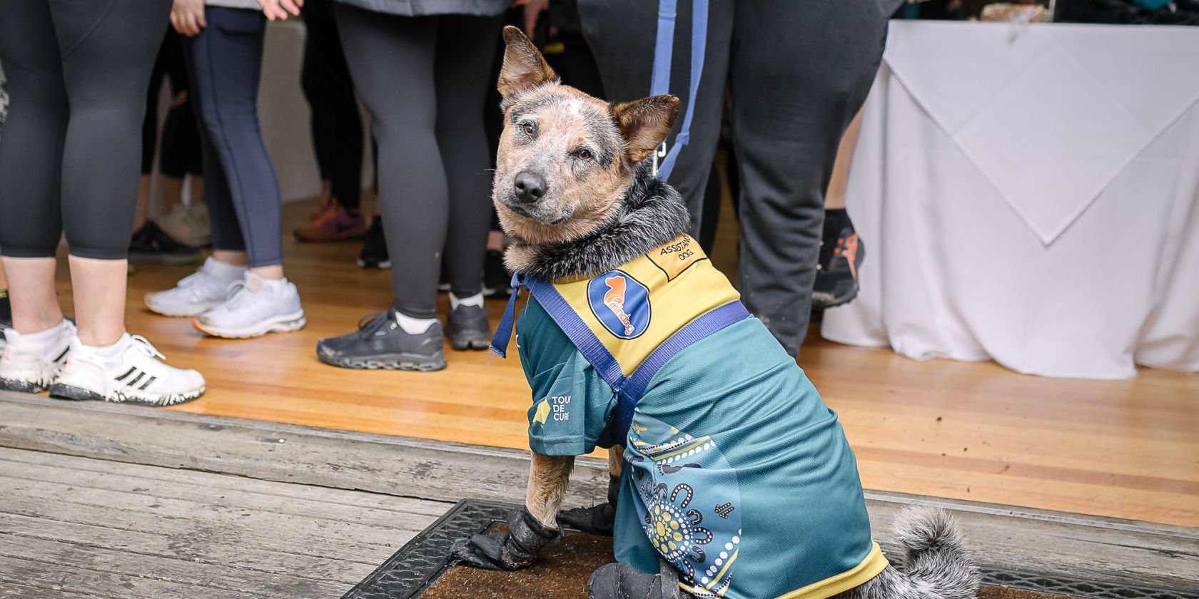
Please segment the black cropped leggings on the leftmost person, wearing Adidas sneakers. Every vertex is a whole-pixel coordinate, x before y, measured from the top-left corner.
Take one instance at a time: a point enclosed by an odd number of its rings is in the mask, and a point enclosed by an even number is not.
[[[0,61],[12,95],[0,138],[0,248],[125,259],[141,119],[170,0],[5,0]],[[70,109],[68,109],[70,105]]]

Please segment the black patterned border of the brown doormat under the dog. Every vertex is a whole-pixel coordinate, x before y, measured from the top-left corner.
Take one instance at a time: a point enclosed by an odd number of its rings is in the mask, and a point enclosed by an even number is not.
[[[463,500],[408,541],[342,599],[412,599],[446,569],[450,546],[504,520],[517,506]],[[983,583],[1086,599],[1199,599],[1199,594],[1151,587],[1107,585],[1043,574],[983,568]]]

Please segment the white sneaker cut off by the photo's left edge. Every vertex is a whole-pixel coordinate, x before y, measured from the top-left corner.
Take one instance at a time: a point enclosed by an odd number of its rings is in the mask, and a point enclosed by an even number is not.
[[[40,333],[6,329],[0,389],[41,393],[50,388],[59,380],[74,335],[76,326],[70,320]]]

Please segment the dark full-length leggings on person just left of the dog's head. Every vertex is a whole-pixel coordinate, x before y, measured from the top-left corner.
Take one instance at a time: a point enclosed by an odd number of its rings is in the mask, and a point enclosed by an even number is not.
[[[442,247],[451,291],[480,291],[492,194],[483,98],[500,18],[335,11],[379,143],[394,307],[433,317]]]

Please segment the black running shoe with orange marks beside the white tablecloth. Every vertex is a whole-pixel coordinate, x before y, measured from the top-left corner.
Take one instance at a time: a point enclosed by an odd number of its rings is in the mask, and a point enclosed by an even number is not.
[[[833,308],[857,297],[857,268],[866,258],[866,247],[854,231],[854,223],[844,211],[829,211],[824,237],[820,240],[820,262],[812,289],[812,307]]]

